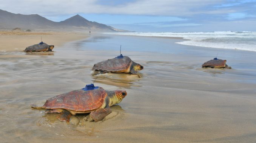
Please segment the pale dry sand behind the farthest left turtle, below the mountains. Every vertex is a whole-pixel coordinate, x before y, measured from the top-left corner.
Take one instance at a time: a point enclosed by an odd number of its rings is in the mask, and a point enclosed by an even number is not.
[[[72,32],[12,32],[0,31],[0,51],[23,51],[26,47],[42,41],[56,47],[66,42],[84,39],[88,33]]]

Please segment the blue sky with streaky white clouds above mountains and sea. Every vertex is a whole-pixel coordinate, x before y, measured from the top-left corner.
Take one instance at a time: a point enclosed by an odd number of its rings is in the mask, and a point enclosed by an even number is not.
[[[0,0],[0,9],[136,32],[256,31],[256,0]]]

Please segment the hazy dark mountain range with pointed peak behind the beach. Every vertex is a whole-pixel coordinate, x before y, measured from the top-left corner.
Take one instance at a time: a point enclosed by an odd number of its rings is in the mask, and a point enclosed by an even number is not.
[[[14,29],[19,27],[23,30],[93,30],[108,32],[125,32],[125,30],[115,29],[105,24],[88,21],[80,15],[75,15],[64,21],[54,22],[38,14],[23,15],[13,14],[0,9],[0,29]]]

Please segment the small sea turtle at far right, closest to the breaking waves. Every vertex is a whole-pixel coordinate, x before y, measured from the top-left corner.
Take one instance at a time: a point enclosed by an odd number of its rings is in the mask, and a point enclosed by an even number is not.
[[[222,60],[222,59],[217,59],[217,58],[214,58],[213,60],[209,60],[207,62],[205,62],[203,65],[202,65],[202,68],[229,68],[231,69],[230,66],[228,66],[226,64],[227,60]]]

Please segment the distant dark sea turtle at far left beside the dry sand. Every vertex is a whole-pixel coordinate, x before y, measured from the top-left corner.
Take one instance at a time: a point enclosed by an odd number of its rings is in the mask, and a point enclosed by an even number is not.
[[[35,44],[32,46],[26,47],[26,49],[24,51],[26,51],[26,52],[52,51],[53,48],[54,48],[54,45],[47,45],[44,42],[40,42],[39,44]]]

